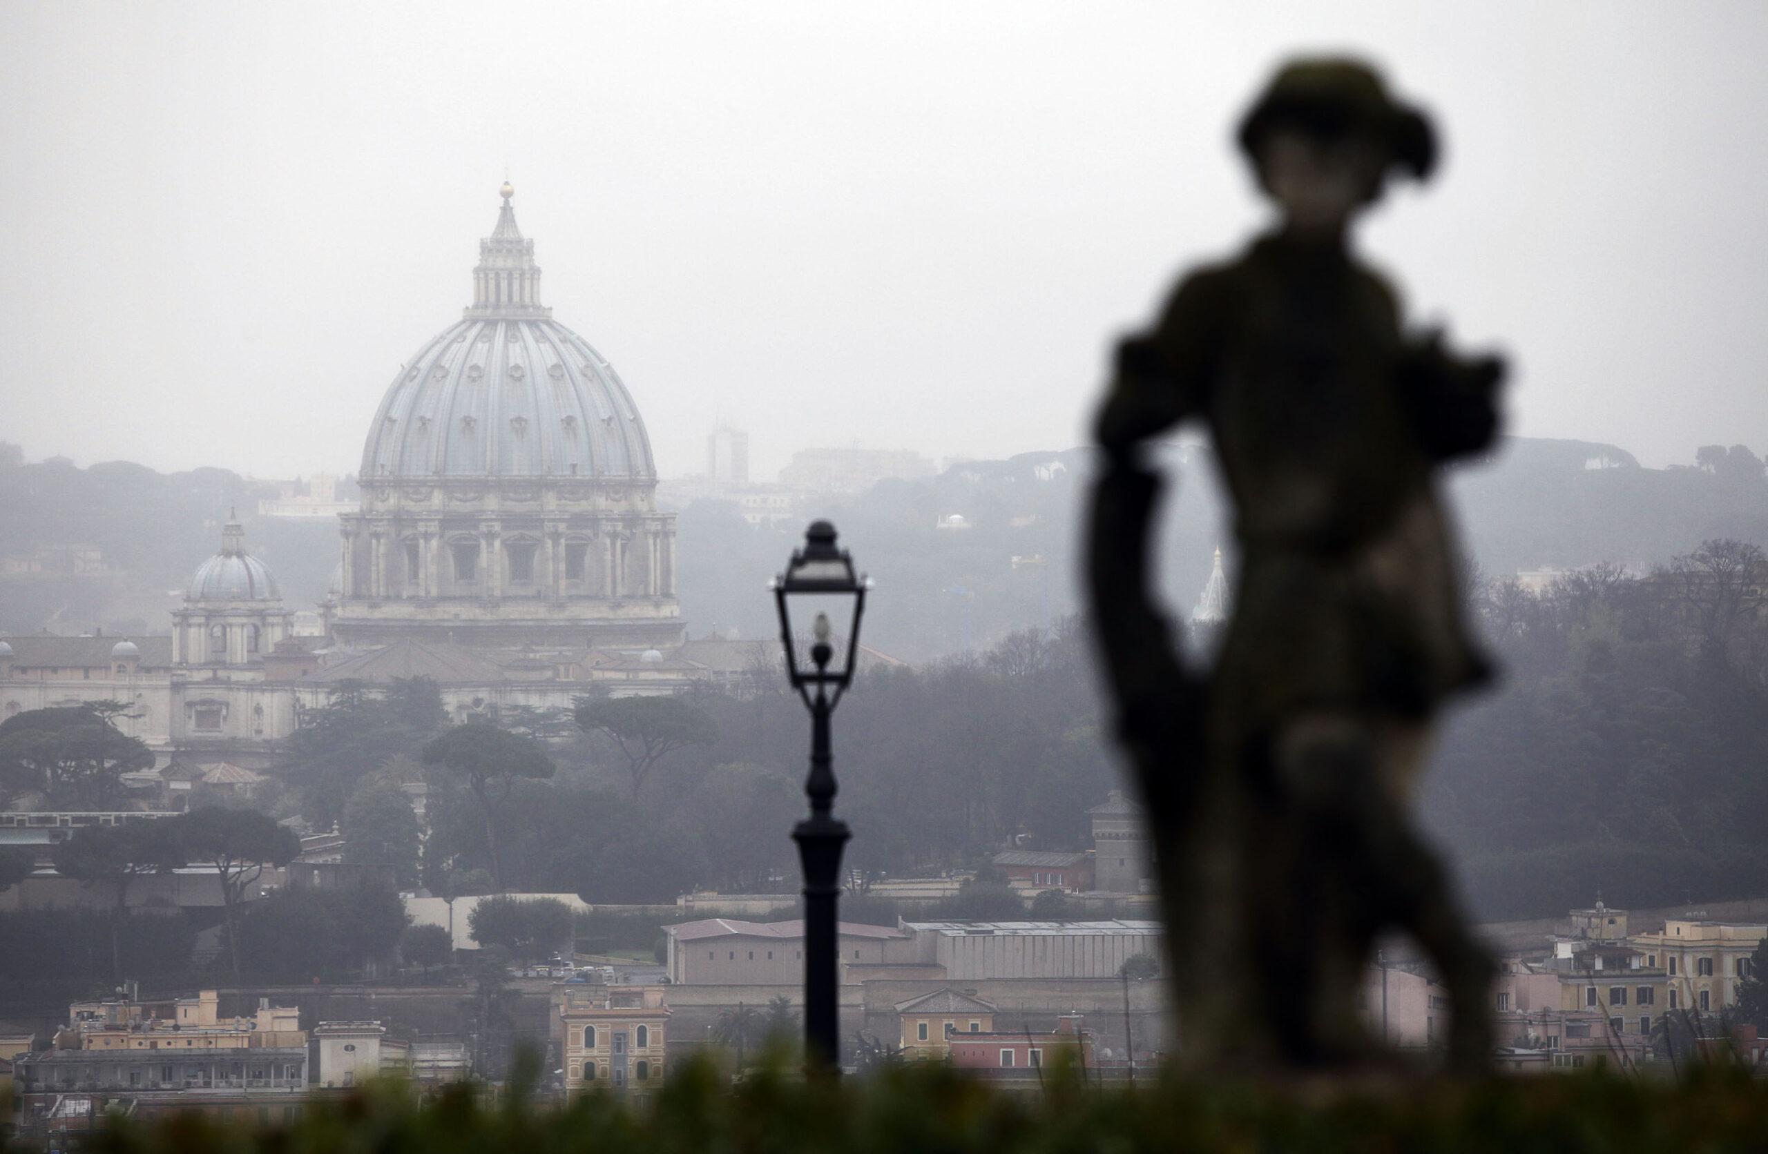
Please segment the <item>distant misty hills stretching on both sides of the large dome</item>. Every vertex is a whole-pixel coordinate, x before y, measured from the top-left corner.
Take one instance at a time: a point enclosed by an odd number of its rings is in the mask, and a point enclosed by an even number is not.
[[[1190,611],[1211,553],[1229,544],[1208,449],[1169,447],[1162,580]],[[1754,465],[1752,465],[1754,461]],[[969,461],[926,481],[886,481],[822,507],[879,583],[868,643],[903,659],[981,649],[1004,633],[1077,606],[1084,449]],[[1708,537],[1768,543],[1768,481],[1749,451],[1704,449],[1701,465],[1642,468],[1616,445],[1508,438],[1452,482],[1462,535],[1487,574],[1568,569],[1598,560],[1650,567]],[[191,571],[216,551],[237,507],[251,551],[272,567],[290,608],[325,596],[336,566],[331,520],[253,516],[274,497],[219,468],[157,474],[110,461],[0,468],[0,629],[164,631]],[[713,629],[764,636],[774,627],[762,585],[797,528],[757,528],[735,505],[698,500],[679,511],[682,615]],[[51,573],[57,550],[94,546],[103,571]],[[18,573],[37,558],[42,573]],[[732,580],[751,573],[753,581]]]

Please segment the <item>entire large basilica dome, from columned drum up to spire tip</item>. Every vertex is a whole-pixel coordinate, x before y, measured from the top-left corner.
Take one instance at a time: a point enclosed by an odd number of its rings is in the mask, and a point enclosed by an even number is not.
[[[539,302],[511,196],[474,299],[387,387],[341,518],[345,645],[674,647],[675,518],[601,353]]]

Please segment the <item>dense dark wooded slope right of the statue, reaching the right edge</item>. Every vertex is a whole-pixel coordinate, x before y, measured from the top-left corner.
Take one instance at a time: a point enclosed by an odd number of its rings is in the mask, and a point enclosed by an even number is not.
[[[1482,914],[1768,892],[1764,594],[1738,541],[1485,590],[1505,682],[1450,726],[1427,788]]]

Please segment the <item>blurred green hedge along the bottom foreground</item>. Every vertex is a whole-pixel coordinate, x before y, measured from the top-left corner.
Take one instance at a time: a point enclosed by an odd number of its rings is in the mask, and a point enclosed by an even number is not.
[[[111,1154],[1717,1154],[1768,1149],[1768,1083],[1736,1069],[1701,1071],[1674,1085],[1602,1074],[1476,1085],[1169,1078],[1101,1090],[1052,1078],[1040,1096],[939,1067],[838,1085],[758,1074],[723,1089],[711,1066],[682,1062],[647,1110],[599,1094],[560,1108],[527,1105],[520,1094],[481,1105],[470,1090],[414,1108],[398,1087],[375,1087],[311,1108],[290,1126],[164,1119],[115,1126],[94,1147]]]

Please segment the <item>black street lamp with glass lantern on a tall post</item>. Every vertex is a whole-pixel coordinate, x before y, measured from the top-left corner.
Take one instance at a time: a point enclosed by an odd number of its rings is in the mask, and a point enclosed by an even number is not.
[[[810,816],[792,827],[792,841],[797,841],[797,857],[804,868],[804,1053],[812,1069],[829,1073],[842,1067],[834,998],[834,903],[842,892],[836,882],[849,838],[847,822],[831,813],[834,767],[829,755],[829,714],[854,680],[866,585],[866,578],[854,573],[847,550],[834,548],[834,525],[827,521],[812,521],[804,530],[804,548],[792,553],[785,573],[773,581],[774,601],[780,604],[785,673],[810,709],[810,778],[804,779]],[[799,661],[789,603],[801,613],[819,608],[806,654],[812,668]],[[847,624],[847,654],[840,664],[831,664],[836,657],[831,610],[838,615],[852,613]]]

